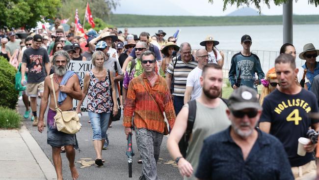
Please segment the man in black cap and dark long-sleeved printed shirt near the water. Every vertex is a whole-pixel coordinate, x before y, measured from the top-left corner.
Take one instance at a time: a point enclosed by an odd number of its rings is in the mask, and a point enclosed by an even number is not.
[[[245,85],[257,91],[257,85],[265,77],[258,56],[250,52],[251,44],[250,35],[243,35],[241,37],[242,51],[232,58],[228,78],[234,90],[240,85]],[[257,73],[258,78],[255,77],[255,73]]]

